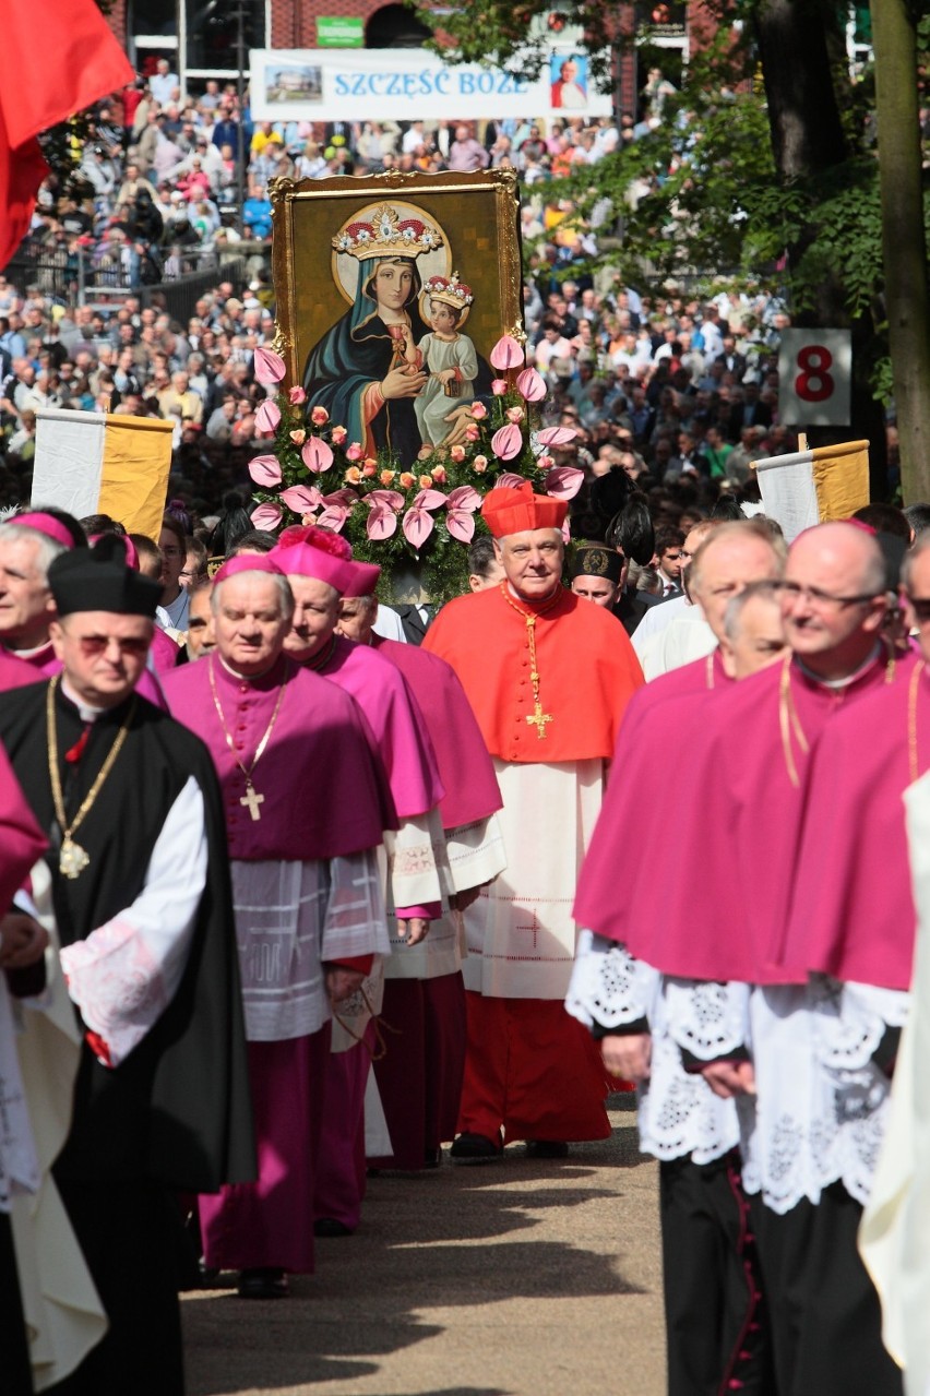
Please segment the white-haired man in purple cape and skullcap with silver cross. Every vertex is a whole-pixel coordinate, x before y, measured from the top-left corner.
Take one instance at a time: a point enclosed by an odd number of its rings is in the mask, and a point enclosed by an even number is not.
[[[216,574],[216,649],[168,680],[223,790],[233,860],[258,1182],[201,1199],[209,1266],[240,1293],[286,1293],[313,1270],[314,1173],[330,1048],[330,1000],[387,952],[377,870],[395,821],[353,701],[283,655],[293,599],[268,557]]]

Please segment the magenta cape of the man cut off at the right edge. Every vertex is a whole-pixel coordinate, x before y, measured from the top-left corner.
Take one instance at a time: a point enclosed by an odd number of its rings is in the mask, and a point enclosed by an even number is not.
[[[903,792],[913,669],[838,715],[811,759],[788,930],[775,959],[881,988],[910,986],[916,910]],[[917,773],[930,766],[930,680],[917,680]]]

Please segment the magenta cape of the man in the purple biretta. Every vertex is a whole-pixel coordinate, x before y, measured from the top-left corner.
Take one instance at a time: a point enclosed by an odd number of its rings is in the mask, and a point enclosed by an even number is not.
[[[401,819],[434,810],[445,794],[426,718],[402,674],[369,645],[334,635],[332,658],[307,670],[337,684],[357,702],[374,733],[394,805]]]

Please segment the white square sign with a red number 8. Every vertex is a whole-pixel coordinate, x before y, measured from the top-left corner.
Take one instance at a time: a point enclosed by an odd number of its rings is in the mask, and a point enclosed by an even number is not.
[[[849,426],[850,380],[848,329],[782,331],[778,419],[783,426]]]

